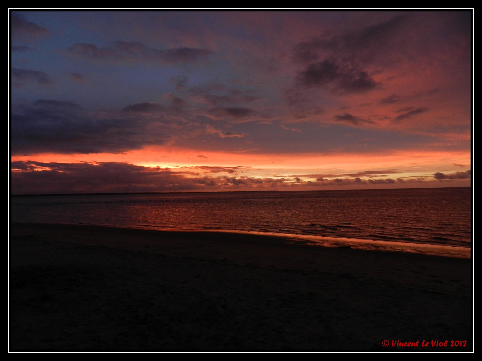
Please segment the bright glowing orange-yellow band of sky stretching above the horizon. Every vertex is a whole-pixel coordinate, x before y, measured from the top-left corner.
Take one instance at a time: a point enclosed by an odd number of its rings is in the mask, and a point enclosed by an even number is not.
[[[202,154],[203,157],[199,155]],[[443,171],[459,171],[458,164],[470,168],[469,152],[393,151],[380,154],[255,154],[189,150],[176,147],[149,146],[122,154],[39,154],[12,156],[12,161],[42,163],[123,162],[144,167],[245,167],[250,176],[272,177],[301,173],[355,173],[382,169],[397,169],[398,177],[424,177]]]

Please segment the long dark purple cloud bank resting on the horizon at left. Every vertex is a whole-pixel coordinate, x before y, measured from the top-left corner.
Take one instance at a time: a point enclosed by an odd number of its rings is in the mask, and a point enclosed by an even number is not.
[[[212,173],[235,174],[242,167],[205,167]],[[12,163],[13,194],[174,192],[236,190],[245,187],[276,187],[284,179],[250,177],[187,177],[192,172],[127,163]]]

